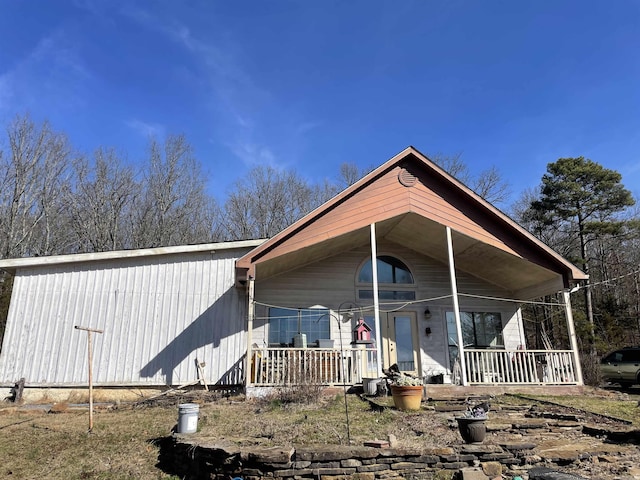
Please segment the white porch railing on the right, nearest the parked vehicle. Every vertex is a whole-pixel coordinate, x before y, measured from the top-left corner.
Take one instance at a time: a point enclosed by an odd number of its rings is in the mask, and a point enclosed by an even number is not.
[[[467,381],[474,384],[575,384],[571,350],[464,351]]]

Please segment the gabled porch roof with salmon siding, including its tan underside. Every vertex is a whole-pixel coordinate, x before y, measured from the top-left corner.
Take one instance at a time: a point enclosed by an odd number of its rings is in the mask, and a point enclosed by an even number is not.
[[[413,147],[236,262],[238,281],[268,278],[378,238],[447,262],[517,298],[556,292],[586,275]]]

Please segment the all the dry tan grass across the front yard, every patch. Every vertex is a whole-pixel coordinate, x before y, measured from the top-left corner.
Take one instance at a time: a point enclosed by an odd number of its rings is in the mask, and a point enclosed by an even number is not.
[[[302,395],[305,397],[307,403],[297,403],[286,395],[261,401],[233,397],[203,402],[198,435],[247,447],[346,444],[344,397]],[[598,395],[541,398],[640,424],[637,400]],[[389,435],[403,446],[460,442],[458,432],[447,422],[453,414],[434,414],[424,409],[415,413],[376,411],[358,397],[349,395],[347,399],[349,433],[354,444],[386,440]],[[0,409],[0,478],[177,479],[156,466],[156,440],[171,434],[178,416],[176,404],[192,400],[179,398],[173,404],[98,409],[90,434],[86,409],[75,410],[68,405],[56,406],[53,410],[59,413],[10,406]],[[517,400],[496,399],[501,403],[514,401]]]

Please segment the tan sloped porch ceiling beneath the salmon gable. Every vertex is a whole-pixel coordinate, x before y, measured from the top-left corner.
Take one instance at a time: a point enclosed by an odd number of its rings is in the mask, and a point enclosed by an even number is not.
[[[448,263],[446,229],[417,214],[404,214],[376,223],[376,236],[401,244],[443,264]],[[456,269],[492,283],[515,298],[535,298],[563,287],[562,274],[452,231]],[[369,227],[306,246],[269,260],[258,261],[256,277],[267,278],[370,243]],[[542,263],[542,262],[541,262]]]

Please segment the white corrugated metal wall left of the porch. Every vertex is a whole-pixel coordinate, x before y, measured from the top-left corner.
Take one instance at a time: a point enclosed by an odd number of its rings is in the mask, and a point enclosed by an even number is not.
[[[96,385],[243,380],[246,297],[235,260],[249,249],[103,260],[18,270],[0,382],[86,385],[87,333]]]

